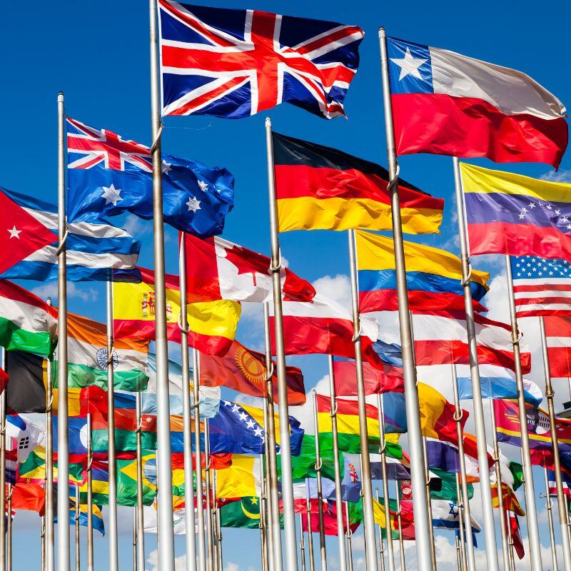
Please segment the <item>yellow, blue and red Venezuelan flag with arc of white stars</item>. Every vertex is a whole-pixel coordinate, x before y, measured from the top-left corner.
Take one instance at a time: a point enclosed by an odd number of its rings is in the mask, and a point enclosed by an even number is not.
[[[571,259],[571,184],[460,163],[470,254]]]

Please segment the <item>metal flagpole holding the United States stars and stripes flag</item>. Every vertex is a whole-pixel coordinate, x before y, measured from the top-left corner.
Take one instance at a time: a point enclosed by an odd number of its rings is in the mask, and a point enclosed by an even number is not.
[[[512,266],[510,264],[510,256],[505,256],[505,271],[507,277],[507,297],[510,301],[510,319],[512,325],[512,345],[513,358],[515,364],[515,383],[517,385],[517,404],[520,413],[520,432],[521,432],[521,450],[523,475],[525,476],[525,507],[527,510],[527,536],[530,540],[530,560],[532,571],[541,571],[541,545],[540,532],[537,526],[537,507],[535,506],[535,486],[533,485],[533,473],[530,454],[530,436],[527,432],[527,413],[525,410],[525,396],[523,393],[523,375],[522,362],[520,353],[520,333],[517,329],[517,313],[515,310],[515,294],[513,291]],[[547,373],[549,378],[549,373]],[[547,401],[549,402],[549,401]],[[557,455],[554,454],[555,459]],[[481,472],[481,470],[480,470]],[[567,545],[568,547],[568,545]],[[568,559],[565,560],[567,564]],[[570,567],[565,567],[569,571]]]

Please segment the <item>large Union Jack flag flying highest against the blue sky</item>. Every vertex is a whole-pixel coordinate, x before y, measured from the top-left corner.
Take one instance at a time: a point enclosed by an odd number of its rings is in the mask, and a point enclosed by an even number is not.
[[[163,115],[241,118],[287,101],[343,116],[363,30],[158,0]]]

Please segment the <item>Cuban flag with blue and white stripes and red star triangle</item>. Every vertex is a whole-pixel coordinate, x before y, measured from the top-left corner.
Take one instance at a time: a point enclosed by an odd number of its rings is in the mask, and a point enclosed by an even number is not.
[[[8,279],[48,281],[57,278],[58,264],[56,251],[58,249],[58,207],[6,189],[0,189],[7,195],[9,203],[4,205],[6,221],[12,222],[13,238],[8,238],[4,256],[10,251],[6,263],[2,267],[0,258],[0,277]],[[0,200],[3,198],[0,196]],[[5,198],[4,198],[5,199]],[[26,216],[26,226],[16,226],[21,212]],[[10,218],[12,213],[16,218]],[[7,223],[7,222],[6,222]],[[44,229],[42,229],[44,228]],[[138,279],[138,271],[134,270],[141,242],[135,240],[128,232],[110,226],[107,223],[91,224],[70,222],[67,225],[66,238],[66,272],[68,281],[107,281],[111,268],[116,272],[115,279]],[[19,234],[18,231],[24,231]],[[22,251],[21,241],[26,241],[29,233],[38,234],[44,238],[44,244],[34,249]],[[4,236],[4,234],[3,234]],[[18,246],[17,243],[20,244]],[[39,244],[38,244],[39,245]],[[16,247],[18,246],[18,247]],[[25,252],[25,253],[24,253]],[[20,256],[23,253],[24,256]],[[19,258],[19,259],[16,259]],[[17,263],[16,263],[17,262]],[[15,264],[15,265],[14,265]]]

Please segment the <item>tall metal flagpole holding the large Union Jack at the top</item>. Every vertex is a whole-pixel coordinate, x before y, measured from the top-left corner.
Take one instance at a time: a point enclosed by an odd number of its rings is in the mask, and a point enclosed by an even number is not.
[[[165,237],[161,161],[161,89],[158,69],[157,2],[149,0],[151,47],[151,128],[153,144],[153,245],[155,262],[155,352],[157,401],[157,539],[158,568],[174,571],[173,471],[171,467],[171,411],[168,400],[166,340]]]

